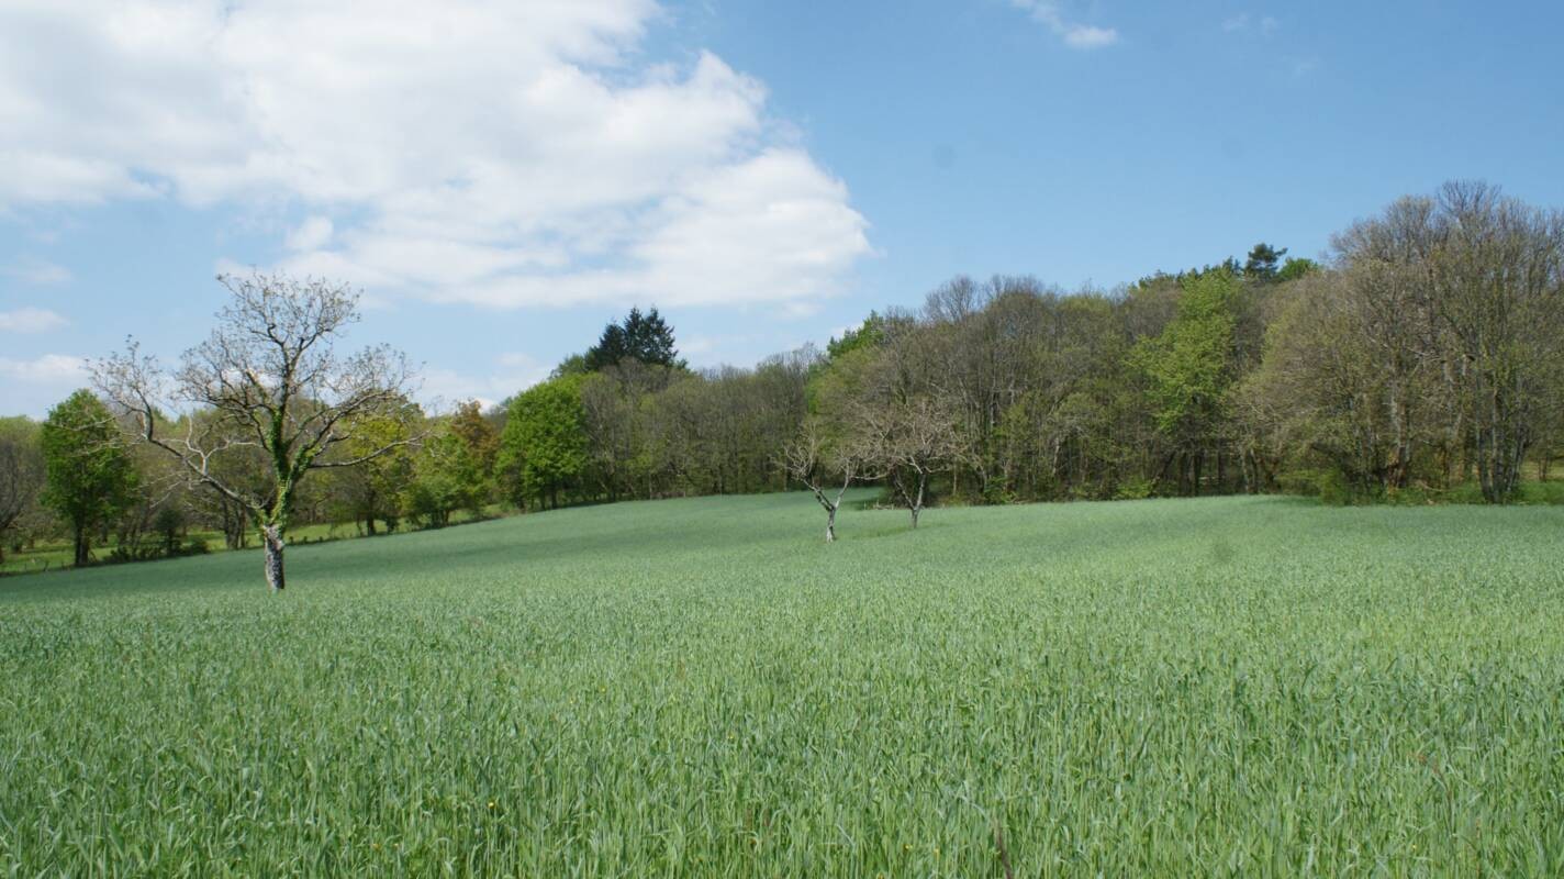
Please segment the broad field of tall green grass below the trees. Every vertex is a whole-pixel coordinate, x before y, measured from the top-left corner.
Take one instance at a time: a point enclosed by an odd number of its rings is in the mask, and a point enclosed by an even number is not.
[[[566,510],[0,580],[0,874],[1564,873],[1564,510]]]

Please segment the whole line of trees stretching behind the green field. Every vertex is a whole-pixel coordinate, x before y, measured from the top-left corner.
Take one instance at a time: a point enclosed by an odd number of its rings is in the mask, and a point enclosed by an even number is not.
[[[1564,219],[1483,183],[1400,199],[1322,263],[1257,244],[1114,291],[957,277],[749,369],[691,369],[632,310],[546,382],[439,416],[399,353],[336,349],[347,288],[224,283],[178,368],[131,347],[42,424],[0,422],[6,543],[66,532],[86,561],[256,535],[280,587],[299,522],[810,488],[829,540],[854,483],[913,527],[938,502],[1473,485],[1505,504],[1564,444]]]

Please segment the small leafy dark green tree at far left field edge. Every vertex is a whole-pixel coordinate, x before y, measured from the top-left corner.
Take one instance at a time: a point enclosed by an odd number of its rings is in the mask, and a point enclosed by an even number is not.
[[[131,504],[138,485],[114,414],[92,391],[77,391],[48,410],[39,447],[47,469],[41,499],[70,526],[72,558],[86,565],[92,532]]]

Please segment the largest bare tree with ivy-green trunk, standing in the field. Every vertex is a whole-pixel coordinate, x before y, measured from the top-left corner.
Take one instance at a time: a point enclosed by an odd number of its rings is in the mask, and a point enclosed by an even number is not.
[[[128,413],[139,438],[172,455],[189,480],[242,505],[266,547],[266,583],[283,588],[283,532],[305,474],[355,466],[416,438],[333,454],[361,427],[408,404],[413,372],[386,346],[341,357],[335,343],[358,319],[346,285],[286,275],[217,278],[231,294],[211,336],[164,372],[136,343],[94,364],[99,389]],[[180,430],[160,419],[189,408]],[[196,414],[206,418],[196,418]],[[222,475],[222,463],[260,449],[269,463],[264,490]]]

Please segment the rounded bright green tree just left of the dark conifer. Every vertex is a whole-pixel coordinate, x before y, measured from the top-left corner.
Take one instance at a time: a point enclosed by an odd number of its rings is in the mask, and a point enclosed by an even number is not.
[[[552,379],[518,394],[500,435],[496,469],[518,507],[552,500],[586,469],[586,413],[579,377]]]

